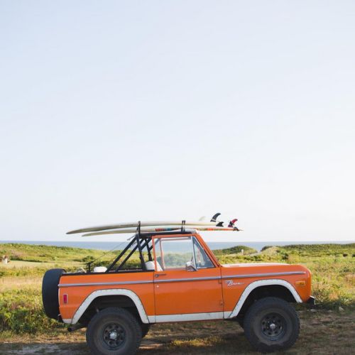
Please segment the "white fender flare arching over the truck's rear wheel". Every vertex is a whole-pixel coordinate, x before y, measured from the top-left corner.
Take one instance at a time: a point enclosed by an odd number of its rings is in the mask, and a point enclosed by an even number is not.
[[[72,317],[72,320],[63,320],[63,322],[68,323],[68,324],[76,324],[78,320],[80,320],[80,317],[84,314],[84,312],[87,310],[87,307],[91,304],[91,302],[101,296],[111,296],[111,295],[123,295],[131,298],[131,300],[134,302],[134,304],[137,307],[139,316],[141,317],[141,321],[143,323],[149,323],[148,317],[146,314],[146,310],[144,310],[144,307],[142,305],[141,300],[139,297],[136,295],[136,293],[133,293],[131,290],[126,290],[124,288],[119,288],[119,289],[107,289],[107,290],[97,290],[94,291],[93,293],[90,293],[82,302],[80,307],[77,309],[75,312],[74,317]]]

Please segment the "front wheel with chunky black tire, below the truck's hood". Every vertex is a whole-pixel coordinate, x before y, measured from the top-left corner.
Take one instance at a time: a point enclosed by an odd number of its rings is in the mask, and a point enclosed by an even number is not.
[[[244,332],[251,346],[261,352],[288,349],[300,334],[300,320],[288,302],[266,297],[249,307]]]

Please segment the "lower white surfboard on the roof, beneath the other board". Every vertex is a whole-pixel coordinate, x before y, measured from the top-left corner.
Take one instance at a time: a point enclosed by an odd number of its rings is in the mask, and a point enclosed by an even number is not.
[[[224,227],[224,226],[199,226],[191,225],[188,226],[187,231],[192,229],[198,231],[239,231],[241,229],[236,229],[236,227]],[[141,233],[152,233],[152,232],[164,232],[164,231],[180,231],[181,228],[174,225],[165,226],[143,226],[141,227]],[[185,229],[186,230],[186,229]],[[136,228],[126,228],[126,229],[114,229],[110,231],[96,231],[93,233],[84,234],[83,236],[102,236],[107,234],[126,234],[126,233],[136,233]]]

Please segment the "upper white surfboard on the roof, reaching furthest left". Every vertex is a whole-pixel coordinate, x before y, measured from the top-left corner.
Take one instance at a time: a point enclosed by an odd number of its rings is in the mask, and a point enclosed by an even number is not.
[[[216,226],[217,222],[191,222],[185,221],[185,226]],[[181,226],[182,221],[155,221],[155,222],[141,222],[142,226]],[[107,224],[106,226],[90,226],[82,229],[75,229],[74,231],[68,231],[67,234],[76,234],[76,233],[87,233],[89,231],[107,231],[108,229],[121,229],[121,228],[138,228],[138,222],[127,222],[127,223],[118,223],[118,224]]]

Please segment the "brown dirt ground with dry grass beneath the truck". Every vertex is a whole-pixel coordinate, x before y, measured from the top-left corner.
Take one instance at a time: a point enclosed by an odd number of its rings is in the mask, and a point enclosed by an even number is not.
[[[355,354],[355,312],[303,310],[301,334],[279,354]],[[84,330],[1,339],[0,354],[89,354]],[[138,355],[256,354],[236,322],[158,324],[143,339]]]

